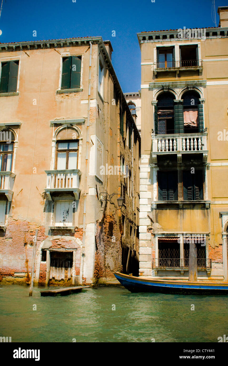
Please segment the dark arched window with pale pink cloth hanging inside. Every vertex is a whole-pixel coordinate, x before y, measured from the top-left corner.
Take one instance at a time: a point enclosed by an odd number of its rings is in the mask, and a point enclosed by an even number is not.
[[[194,90],[183,94],[184,132],[199,132],[199,94]]]

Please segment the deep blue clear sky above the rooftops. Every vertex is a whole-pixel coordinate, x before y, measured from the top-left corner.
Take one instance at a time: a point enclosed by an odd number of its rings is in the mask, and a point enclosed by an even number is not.
[[[218,26],[217,8],[228,0],[215,5]],[[213,27],[212,0],[3,0],[0,42],[101,36],[112,42],[112,63],[126,93],[141,84],[137,33],[184,26]]]

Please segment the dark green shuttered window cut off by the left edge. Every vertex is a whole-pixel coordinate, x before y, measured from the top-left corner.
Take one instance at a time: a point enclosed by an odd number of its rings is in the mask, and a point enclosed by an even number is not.
[[[14,93],[18,85],[19,61],[1,63],[0,93]]]

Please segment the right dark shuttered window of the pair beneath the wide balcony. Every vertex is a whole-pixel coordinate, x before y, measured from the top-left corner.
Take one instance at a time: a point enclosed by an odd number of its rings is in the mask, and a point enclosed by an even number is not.
[[[183,171],[183,195],[184,201],[199,201],[203,199],[203,172],[195,170]]]

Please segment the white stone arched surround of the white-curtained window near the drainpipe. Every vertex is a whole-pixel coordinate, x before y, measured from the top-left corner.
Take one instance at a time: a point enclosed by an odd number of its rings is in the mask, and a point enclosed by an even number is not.
[[[56,123],[58,123],[58,121],[56,121]],[[80,130],[80,128],[78,128],[78,126],[72,126],[71,124],[64,124],[62,126],[60,126],[59,128],[57,128],[54,131],[54,127],[53,127],[53,138],[52,138],[52,158],[51,158],[51,167],[50,170],[55,170],[55,159],[56,159],[56,143],[57,141],[57,135],[59,134],[60,131],[66,129],[66,128],[72,128],[75,130],[76,133],[78,133],[79,137],[76,139],[72,139],[72,141],[79,141],[78,144],[78,169],[81,170],[81,158],[82,158],[82,131]]]

